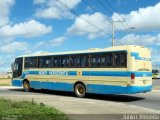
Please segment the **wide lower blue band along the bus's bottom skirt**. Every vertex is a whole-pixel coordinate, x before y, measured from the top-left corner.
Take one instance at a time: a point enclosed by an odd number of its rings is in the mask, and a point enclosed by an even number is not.
[[[13,86],[22,86],[21,80],[13,80]],[[32,88],[48,89],[59,91],[74,91],[74,83],[61,83],[61,82],[40,82],[30,81]],[[134,94],[140,92],[149,92],[152,90],[152,85],[149,86],[115,86],[115,85],[100,85],[100,84],[87,84],[87,93],[96,94]]]

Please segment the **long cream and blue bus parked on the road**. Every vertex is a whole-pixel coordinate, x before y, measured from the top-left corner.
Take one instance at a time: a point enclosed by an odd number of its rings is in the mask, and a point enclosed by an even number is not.
[[[12,64],[13,86],[93,94],[135,94],[152,89],[151,54],[135,45],[22,55]]]

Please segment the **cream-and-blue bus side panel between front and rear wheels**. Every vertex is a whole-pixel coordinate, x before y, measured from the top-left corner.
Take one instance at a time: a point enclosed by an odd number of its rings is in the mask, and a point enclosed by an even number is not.
[[[83,68],[88,71],[87,68]],[[48,89],[48,90],[60,90],[60,91],[74,91],[74,85],[80,81],[85,84],[88,81],[88,75],[82,76],[81,68],[70,68],[70,69],[30,69],[25,71],[24,75],[29,81],[32,88],[35,89]],[[50,73],[66,72],[65,75],[50,75]]]

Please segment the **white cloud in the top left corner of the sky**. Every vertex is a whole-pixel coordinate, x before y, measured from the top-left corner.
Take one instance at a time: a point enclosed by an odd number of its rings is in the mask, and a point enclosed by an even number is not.
[[[0,0],[0,27],[9,22],[10,8],[15,0]]]

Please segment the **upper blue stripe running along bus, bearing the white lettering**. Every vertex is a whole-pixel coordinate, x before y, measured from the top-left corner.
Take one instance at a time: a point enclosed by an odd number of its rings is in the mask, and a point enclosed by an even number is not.
[[[54,71],[53,71],[54,72]],[[82,71],[82,76],[114,76],[114,77],[130,77],[131,74],[135,74],[135,77],[151,77],[152,72],[131,72],[131,71]],[[22,74],[22,78],[25,78],[26,74],[39,75],[39,71],[28,71]],[[44,75],[50,75],[49,71],[46,71]],[[77,76],[77,71],[68,71],[64,76]]]

